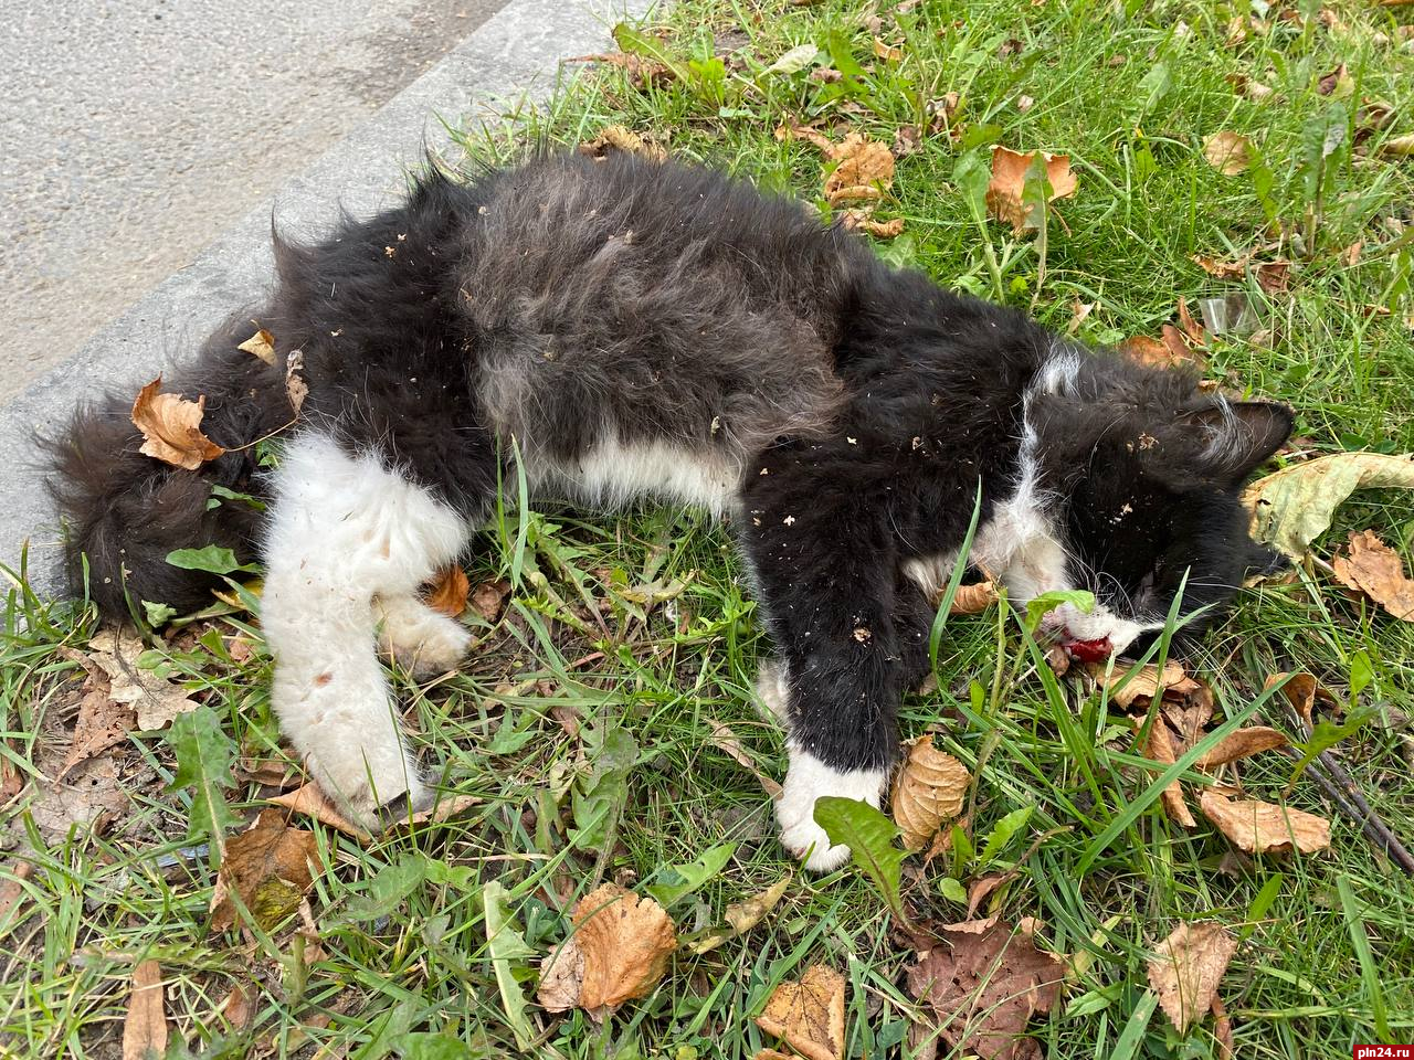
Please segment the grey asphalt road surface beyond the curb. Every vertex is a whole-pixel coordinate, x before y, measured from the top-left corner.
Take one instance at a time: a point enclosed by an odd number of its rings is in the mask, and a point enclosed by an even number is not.
[[[505,0],[0,0],[0,401]]]

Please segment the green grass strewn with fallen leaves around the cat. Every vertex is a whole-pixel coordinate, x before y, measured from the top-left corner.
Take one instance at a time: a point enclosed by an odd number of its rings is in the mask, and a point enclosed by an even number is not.
[[[1264,33],[1229,40],[1232,18],[1263,11]],[[872,55],[871,14],[882,20],[875,33],[902,40],[901,61]],[[468,130],[464,143],[477,158],[503,158],[527,136],[575,143],[626,124],[817,202],[819,154],[778,140],[778,124],[822,119],[836,139],[848,129],[892,143],[902,126],[926,127],[930,103],[957,92],[960,139],[923,136],[899,160],[878,213],[902,216],[905,235],[880,253],[945,284],[1034,302],[1059,329],[1076,301],[1093,302],[1079,325],[1092,342],[1157,334],[1179,297],[1244,291],[1261,331],[1216,339],[1212,373],[1292,403],[1301,452],[1403,452],[1414,449],[1414,164],[1377,147],[1414,126],[1396,113],[1390,129],[1359,130],[1363,100],[1407,96],[1414,54],[1389,10],[1338,4],[1333,14],[1332,27],[1312,4],[925,0],[895,16],[853,0],[687,0],[650,27],[650,47],[680,66],[677,81],[641,89],[625,71],[590,71],[544,110]],[[762,72],[800,44],[820,48],[810,68]],[[1321,95],[1321,75],[1342,62],[1352,93]],[[843,79],[812,76],[823,65]],[[1278,96],[1253,102],[1234,90],[1234,75]],[[1021,96],[1034,103],[1018,107]],[[1331,129],[1342,143],[1318,172],[1304,158],[1314,144],[1319,160]],[[1219,130],[1249,136],[1260,164],[1216,172],[1200,146]],[[1079,174],[1079,194],[1058,204],[1048,228],[1044,283],[1034,240],[978,225],[954,184],[959,160],[984,157],[991,141],[1069,153]],[[1267,295],[1251,277],[1217,281],[1193,261],[1234,257],[1274,230],[1287,237],[1268,253],[1295,261],[1287,291]],[[1356,260],[1346,249],[1357,240]],[[1348,529],[1365,526],[1408,565],[1407,495],[1348,505],[1318,551],[1329,555]],[[206,929],[211,837],[188,835],[191,789],[167,790],[175,760],[163,734],[130,732],[106,756],[127,793],[106,820],[65,831],[62,815],[45,817],[44,780],[64,758],[83,680],[78,653],[96,625],[88,606],[37,599],[13,579],[0,649],[0,777],[13,777],[0,808],[0,896],[11,897],[0,913],[0,1047],[117,1056],[132,970],[156,958],[175,1054],[749,1057],[775,1044],[751,1020],[773,987],[820,961],[850,982],[848,1056],[908,1054],[906,954],[853,869],[796,873],[759,927],[701,957],[680,953],[653,994],[604,1026],[532,1005],[522,1030],[533,1043],[516,1044],[505,996],[518,985],[533,994],[533,961],[502,953],[498,982],[488,886],[492,896],[503,888],[527,946],[547,953],[564,937],[567,910],[600,881],[648,885],[665,865],[734,842],[727,866],[670,907],[683,931],[717,923],[728,903],[795,868],[773,838],[769,800],[714,742],[714,722],[764,773],[781,775],[783,748],[752,705],[768,646],[723,529],[693,513],[587,520],[509,505],[478,538],[468,571],[474,585],[513,577],[505,616],[482,623],[485,640],[462,671],[421,685],[399,674],[397,687],[424,760],[448,790],[481,801],[372,844],[317,828],[317,948],[294,933],[297,921],[270,933]],[[672,599],[645,605],[645,585]],[[225,609],[154,639],[147,661],[187,684],[249,765],[280,753],[270,661],[245,606]],[[1414,625],[1346,598],[1312,568],[1244,594],[1195,666],[1226,717],[1264,714],[1266,678],[1294,670],[1353,705],[1356,674],[1372,717],[1338,755],[1414,842],[1410,660]],[[978,769],[971,835],[980,845],[1008,814],[1031,814],[990,864],[908,862],[905,902],[921,917],[960,920],[964,909],[945,897],[949,873],[966,885],[1045,837],[997,900],[1008,919],[1041,917],[1044,944],[1077,958],[1065,999],[1035,1023],[1051,1056],[1219,1056],[1212,1020],[1178,1036],[1154,1013],[1145,978],[1152,946],[1198,917],[1241,938],[1222,985],[1241,1056],[1345,1057],[1352,1043],[1414,1039],[1414,881],[1308,779],[1290,804],[1333,817],[1331,849],[1234,856],[1210,827],[1189,834],[1164,818],[1128,722],[1077,683],[1042,681],[1017,625],[995,611],[949,622],[936,677],[936,691],[909,698],[902,726],[933,732]],[[1280,799],[1288,779],[1277,755],[1241,767],[1256,797]],[[223,797],[246,818],[273,790],[239,770],[233,782]],[[253,1002],[243,1027],[229,1019],[238,985]]]

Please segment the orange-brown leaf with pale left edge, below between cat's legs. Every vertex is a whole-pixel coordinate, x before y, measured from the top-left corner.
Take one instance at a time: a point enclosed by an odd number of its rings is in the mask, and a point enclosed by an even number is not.
[[[540,965],[540,1003],[550,1012],[585,1009],[602,1020],[649,994],[677,947],[672,917],[650,897],[605,883],[580,899],[574,933]]]

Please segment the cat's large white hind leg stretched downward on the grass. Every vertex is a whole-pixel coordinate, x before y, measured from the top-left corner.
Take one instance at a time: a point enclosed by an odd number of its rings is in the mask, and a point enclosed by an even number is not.
[[[375,457],[317,434],[286,451],[274,495],[262,623],[280,728],[365,823],[399,796],[426,803],[375,654],[373,598],[416,594],[461,551],[465,520]]]

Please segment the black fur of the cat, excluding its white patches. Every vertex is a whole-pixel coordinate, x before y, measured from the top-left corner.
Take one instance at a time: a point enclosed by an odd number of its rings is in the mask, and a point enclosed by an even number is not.
[[[243,314],[165,383],[206,396],[214,441],[235,449],[290,418],[298,349],[297,430],[376,452],[472,517],[512,437],[561,472],[608,435],[732,468],[793,738],[839,769],[891,760],[894,707],[925,667],[933,605],[905,561],[959,547],[978,483],[993,516],[1028,425],[1070,578],[1117,609],[1141,596],[1162,613],[1185,575],[1185,611],[1222,603],[1267,560],[1237,488],[1285,438],[1285,408],[1219,406],[1186,372],[1085,351],[715,172],[556,154],[468,184],[434,174],[277,261],[255,314],[277,363],[236,349]],[[1068,377],[1042,393],[1058,358]],[[129,598],[195,608],[215,579],[167,554],[257,558],[259,513],[208,497],[212,483],[264,495],[266,479],[252,449],[198,472],[140,455],[129,404],[81,411],[55,447],[75,579],[86,555],[109,613]]]

